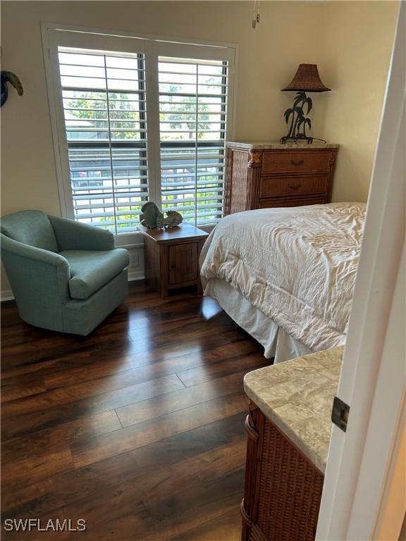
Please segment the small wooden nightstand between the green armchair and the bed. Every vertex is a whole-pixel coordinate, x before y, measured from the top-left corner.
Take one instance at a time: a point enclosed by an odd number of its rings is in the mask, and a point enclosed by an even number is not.
[[[209,233],[189,223],[171,230],[142,228],[144,235],[145,278],[168,297],[169,290],[190,285],[202,294],[199,254]]]

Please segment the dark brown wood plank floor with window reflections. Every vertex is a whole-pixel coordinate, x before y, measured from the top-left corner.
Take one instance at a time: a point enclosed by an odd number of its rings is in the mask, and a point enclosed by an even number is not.
[[[213,299],[140,282],[89,337],[2,306],[2,520],[78,518],[81,533],[3,540],[233,541],[247,397],[262,348]]]

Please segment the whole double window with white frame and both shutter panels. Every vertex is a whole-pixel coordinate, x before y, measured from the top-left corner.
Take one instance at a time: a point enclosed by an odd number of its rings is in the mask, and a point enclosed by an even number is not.
[[[216,223],[234,49],[51,28],[47,41],[66,216],[118,235],[155,201]]]

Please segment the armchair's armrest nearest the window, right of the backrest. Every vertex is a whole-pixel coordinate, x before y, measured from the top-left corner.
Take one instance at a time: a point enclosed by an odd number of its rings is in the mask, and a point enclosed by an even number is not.
[[[54,228],[59,250],[112,250],[114,235],[94,225],[75,222],[67,218],[48,216]]]

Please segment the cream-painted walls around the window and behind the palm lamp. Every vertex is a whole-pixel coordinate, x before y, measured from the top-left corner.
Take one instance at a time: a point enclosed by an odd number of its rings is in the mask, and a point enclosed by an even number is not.
[[[333,92],[314,95],[313,135],[327,134],[343,145],[333,197],[365,200],[396,9],[396,2],[385,1],[262,1],[261,23],[253,30],[252,1],[3,1],[2,65],[17,73],[25,94],[18,97],[11,89],[1,109],[1,214],[22,209],[61,213],[42,21],[238,44],[235,138],[240,140],[285,135],[283,112],[293,95],[280,89],[299,63],[319,63],[322,80]],[[345,36],[345,44],[339,36]],[[349,61],[352,70],[346,68]],[[354,83],[357,71],[363,74],[362,84]],[[353,127],[345,128],[345,118],[357,118],[365,89],[371,88],[368,114],[361,115],[356,136],[351,135]],[[8,287],[3,273],[1,290]]]

